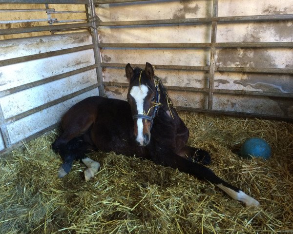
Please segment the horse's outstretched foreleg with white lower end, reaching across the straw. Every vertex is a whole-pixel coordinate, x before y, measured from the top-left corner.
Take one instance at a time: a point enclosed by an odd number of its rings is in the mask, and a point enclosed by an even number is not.
[[[259,206],[259,202],[257,200],[219,178],[209,168],[202,164],[188,161],[184,157],[178,156],[172,152],[159,153],[156,155],[156,158],[154,158],[154,161],[155,163],[178,169],[181,172],[188,173],[198,178],[206,179],[222,189],[233,199],[244,202],[247,207]]]

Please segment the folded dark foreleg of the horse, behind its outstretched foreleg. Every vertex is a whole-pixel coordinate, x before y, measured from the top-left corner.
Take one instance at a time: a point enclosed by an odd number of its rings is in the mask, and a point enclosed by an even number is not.
[[[210,155],[207,151],[188,145],[185,145],[180,151],[176,152],[176,154],[192,162],[200,162],[204,165],[210,163]]]

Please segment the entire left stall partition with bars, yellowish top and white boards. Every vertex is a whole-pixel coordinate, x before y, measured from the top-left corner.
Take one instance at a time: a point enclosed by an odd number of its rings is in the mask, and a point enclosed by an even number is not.
[[[76,102],[103,95],[92,3],[8,2],[43,4],[5,4],[0,9],[0,39],[16,38],[0,40],[1,155],[57,127]],[[46,4],[73,2],[81,4],[80,10],[77,5]]]

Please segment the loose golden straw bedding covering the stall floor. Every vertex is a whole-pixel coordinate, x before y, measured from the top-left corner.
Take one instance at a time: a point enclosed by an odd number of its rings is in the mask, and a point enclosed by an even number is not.
[[[50,145],[57,130],[0,158],[0,233],[293,233],[293,124],[180,112],[188,144],[211,153],[218,176],[260,201],[245,208],[214,185],[154,163],[102,152],[101,170],[84,182],[84,165],[57,177]],[[233,152],[262,137],[272,157]]]

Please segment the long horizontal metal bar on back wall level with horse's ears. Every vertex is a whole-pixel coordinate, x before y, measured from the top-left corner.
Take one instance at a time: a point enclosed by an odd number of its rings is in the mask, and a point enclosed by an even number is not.
[[[125,68],[124,63],[101,63],[102,67],[121,67]],[[145,64],[131,64],[135,67],[145,67]],[[208,66],[178,66],[178,65],[153,65],[157,69],[166,70],[191,70],[209,71]],[[248,73],[272,73],[272,74],[293,74],[293,69],[289,68],[251,68],[251,67],[215,67],[216,72],[248,72]]]

